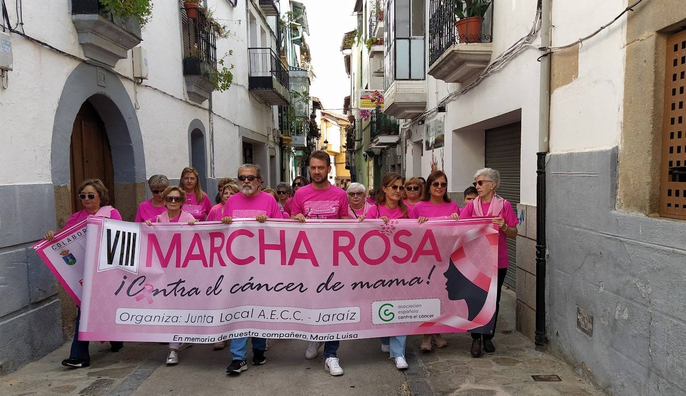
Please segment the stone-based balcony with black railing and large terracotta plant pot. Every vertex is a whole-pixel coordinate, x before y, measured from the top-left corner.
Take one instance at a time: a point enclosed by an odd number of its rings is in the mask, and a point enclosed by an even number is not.
[[[456,7],[464,18],[456,16]],[[493,0],[431,0],[430,12],[429,75],[471,82],[493,55]]]

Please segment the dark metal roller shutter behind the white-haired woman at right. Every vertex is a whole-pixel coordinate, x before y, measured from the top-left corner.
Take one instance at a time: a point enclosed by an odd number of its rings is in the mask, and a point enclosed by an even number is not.
[[[521,123],[486,130],[486,168],[500,172],[498,194],[517,208],[519,203]],[[517,287],[517,240],[508,238],[510,267],[505,284]]]

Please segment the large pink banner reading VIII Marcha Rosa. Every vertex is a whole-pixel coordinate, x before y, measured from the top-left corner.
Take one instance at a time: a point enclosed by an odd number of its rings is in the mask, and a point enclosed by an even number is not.
[[[489,333],[497,231],[466,221],[88,219],[79,338]]]

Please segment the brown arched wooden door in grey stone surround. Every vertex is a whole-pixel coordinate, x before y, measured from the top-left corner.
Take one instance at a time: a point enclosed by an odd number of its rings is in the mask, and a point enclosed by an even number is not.
[[[69,147],[69,166],[73,212],[83,209],[78,198],[80,192],[76,189],[86,179],[102,180],[109,190],[109,204],[114,206],[115,177],[110,142],[107,139],[105,124],[88,101],[81,106],[74,120]]]

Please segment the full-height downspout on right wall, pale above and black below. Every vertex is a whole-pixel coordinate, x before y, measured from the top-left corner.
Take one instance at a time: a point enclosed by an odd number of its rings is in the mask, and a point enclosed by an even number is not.
[[[552,28],[552,0],[539,0],[541,10],[541,47],[550,47]],[[539,92],[539,150],[536,153],[536,330],[534,343],[542,349],[548,340],[545,336],[545,157],[549,149],[550,129],[550,58],[541,58]]]

